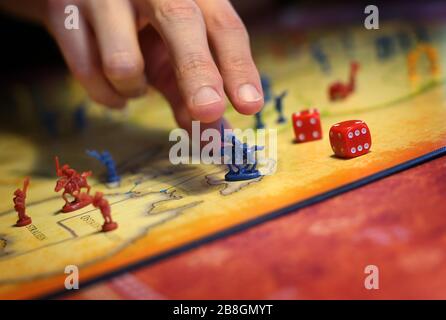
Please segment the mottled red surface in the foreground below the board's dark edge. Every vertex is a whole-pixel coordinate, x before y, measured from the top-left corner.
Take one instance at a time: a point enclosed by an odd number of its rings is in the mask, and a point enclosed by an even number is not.
[[[445,299],[445,195],[442,157],[64,298]]]

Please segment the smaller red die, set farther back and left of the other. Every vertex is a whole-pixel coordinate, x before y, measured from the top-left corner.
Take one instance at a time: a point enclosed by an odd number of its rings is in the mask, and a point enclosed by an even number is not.
[[[292,118],[296,142],[322,139],[321,119],[317,109],[293,113]]]

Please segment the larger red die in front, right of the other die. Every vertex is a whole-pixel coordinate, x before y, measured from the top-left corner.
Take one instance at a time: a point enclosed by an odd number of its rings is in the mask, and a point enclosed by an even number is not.
[[[354,158],[369,152],[372,136],[364,121],[349,120],[331,127],[330,144],[338,157]]]

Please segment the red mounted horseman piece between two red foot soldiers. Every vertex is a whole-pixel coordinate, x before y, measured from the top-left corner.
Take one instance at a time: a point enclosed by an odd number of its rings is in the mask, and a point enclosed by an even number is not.
[[[62,212],[72,212],[88,206],[90,202],[86,201],[86,199],[81,199],[79,195],[82,188],[86,188],[87,194],[90,194],[91,187],[87,182],[87,178],[92,175],[92,172],[88,171],[79,174],[67,164],[60,167],[58,157],[55,157],[55,162],[56,173],[60,178],[57,180],[54,191],[59,192],[64,189],[62,198],[65,200],[65,205],[62,208]],[[66,197],[67,194],[71,195],[74,200],[70,202]]]

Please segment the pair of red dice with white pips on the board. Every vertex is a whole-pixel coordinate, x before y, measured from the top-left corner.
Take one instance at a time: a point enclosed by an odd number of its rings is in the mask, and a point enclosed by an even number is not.
[[[296,142],[322,139],[321,119],[317,109],[293,113],[292,120]],[[331,127],[330,144],[336,156],[355,158],[369,152],[372,136],[364,121],[349,120]]]

